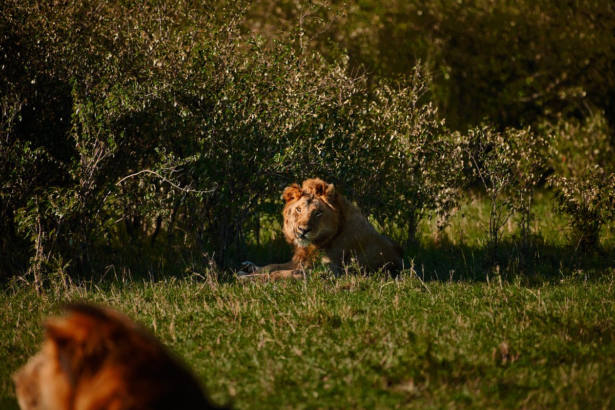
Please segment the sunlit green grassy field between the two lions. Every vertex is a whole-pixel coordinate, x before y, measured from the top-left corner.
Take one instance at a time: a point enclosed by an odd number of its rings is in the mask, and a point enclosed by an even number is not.
[[[472,228],[481,209],[411,255],[414,267],[398,280],[54,279],[41,295],[5,283],[0,408],[17,408],[10,374],[38,349],[41,321],[67,301],[145,324],[215,401],[238,409],[614,408],[611,256],[575,259],[573,248],[549,242],[558,253],[531,269],[485,269]],[[455,239],[459,230],[466,239]]]

